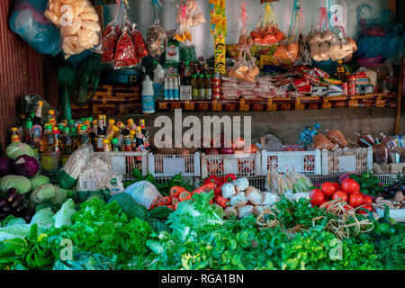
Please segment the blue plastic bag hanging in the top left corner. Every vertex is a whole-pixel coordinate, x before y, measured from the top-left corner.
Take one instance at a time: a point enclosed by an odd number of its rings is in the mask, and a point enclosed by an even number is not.
[[[47,0],[15,0],[9,24],[33,49],[41,54],[60,51],[60,33],[45,17]]]

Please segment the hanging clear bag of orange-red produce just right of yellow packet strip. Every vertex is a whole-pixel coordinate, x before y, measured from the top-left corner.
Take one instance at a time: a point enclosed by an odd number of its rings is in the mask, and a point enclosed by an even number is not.
[[[266,3],[265,17],[261,17],[257,29],[250,33],[253,41],[259,45],[273,45],[284,40],[284,34],[275,24],[274,7]]]

